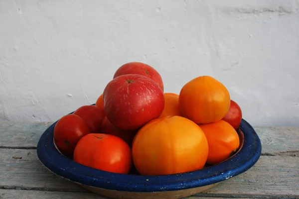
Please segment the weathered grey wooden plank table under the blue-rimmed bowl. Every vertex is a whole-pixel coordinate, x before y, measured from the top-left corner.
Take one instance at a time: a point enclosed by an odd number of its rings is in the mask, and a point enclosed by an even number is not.
[[[49,122],[0,122],[0,199],[104,199],[49,172],[36,145]],[[188,199],[299,199],[299,127],[254,127],[262,156],[247,172]]]

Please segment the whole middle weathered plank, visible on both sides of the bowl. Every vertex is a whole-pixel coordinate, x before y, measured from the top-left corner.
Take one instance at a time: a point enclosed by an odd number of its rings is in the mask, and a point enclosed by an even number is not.
[[[12,157],[22,157],[13,159]],[[0,189],[85,192],[81,187],[49,172],[36,150],[0,149]],[[198,196],[259,195],[299,197],[299,158],[261,156],[257,164],[239,176]],[[216,196],[218,197],[218,196]],[[251,197],[249,197],[251,198]]]

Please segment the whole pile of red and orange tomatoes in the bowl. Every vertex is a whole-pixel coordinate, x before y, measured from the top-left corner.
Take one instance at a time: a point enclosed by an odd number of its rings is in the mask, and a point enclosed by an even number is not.
[[[60,152],[95,169],[139,175],[191,172],[231,157],[239,148],[242,112],[210,76],[164,93],[151,66],[122,65],[95,105],[61,117],[54,128]]]

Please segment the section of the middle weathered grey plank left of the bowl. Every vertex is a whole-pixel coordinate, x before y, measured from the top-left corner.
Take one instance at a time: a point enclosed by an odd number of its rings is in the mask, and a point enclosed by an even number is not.
[[[34,149],[0,149],[0,176],[0,189],[86,192],[47,170]]]

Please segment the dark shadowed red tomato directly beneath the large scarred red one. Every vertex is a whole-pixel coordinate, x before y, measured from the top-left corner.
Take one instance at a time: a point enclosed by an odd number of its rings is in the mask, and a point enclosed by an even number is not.
[[[132,142],[134,139],[135,134],[137,133],[137,130],[133,131],[124,131],[113,125],[107,117],[104,118],[102,123],[102,133],[115,135],[127,142],[129,146],[132,146]]]

